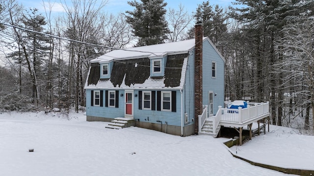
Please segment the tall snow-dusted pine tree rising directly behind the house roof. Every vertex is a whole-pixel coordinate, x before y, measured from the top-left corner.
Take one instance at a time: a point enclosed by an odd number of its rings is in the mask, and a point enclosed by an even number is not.
[[[127,22],[133,28],[133,35],[138,37],[136,46],[161,44],[168,39],[168,23],[165,20],[165,6],[163,0],[128,1],[135,7],[134,11],[126,11],[129,16]]]

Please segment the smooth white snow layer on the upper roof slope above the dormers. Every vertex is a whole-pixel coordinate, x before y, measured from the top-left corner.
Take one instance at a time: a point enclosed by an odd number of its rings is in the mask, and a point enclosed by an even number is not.
[[[203,41],[206,39],[203,38]],[[168,53],[176,53],[189,51],[195,46],[195,39],[184,40],[179,42],[171,42],[165,44],[152,44],[147,46],[132,47],[127,49],[117,49],[108,52],[96,59],[91,60],[92,63],[106,63],[112,60],[124,60],[130,58],[143,57],[163,57]]]

